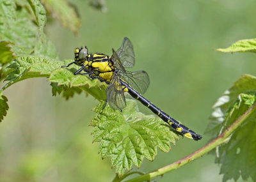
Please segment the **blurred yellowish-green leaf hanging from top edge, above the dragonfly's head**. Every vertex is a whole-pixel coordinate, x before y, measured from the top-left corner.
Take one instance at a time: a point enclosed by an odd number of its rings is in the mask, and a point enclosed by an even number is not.
[[[74,33],[78,33],[81,20],[75,6],[71,6],[65,0],[42,0],[47,11],[54,15],[64,27],[68,27]]]

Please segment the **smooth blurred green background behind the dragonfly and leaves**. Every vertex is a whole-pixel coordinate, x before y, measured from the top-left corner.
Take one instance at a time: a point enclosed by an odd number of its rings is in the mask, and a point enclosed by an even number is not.
[[[139,171],[154,171],[209,142],[204,131],[214,102],[244,73],[255,75],[253,54],[215,49],[255,38],[256,1],[109,0],[106,13],[88,1],[70,2],[81,17],[79,36],[57,21],[46,26],[61,60],[73,59],[75,47],[84,45],[110,55],[127,36],[136,54],[131,70],[150,76],[145,97],[204,136],[198,142],[180,138],[169,153],[144,160]],[[88,126],[99,102],[84,93],[68,101],[52,97],[49,84],[30,79],[5,91],[10,109],[0,125],[0,181],[111,181],[115,171],[109,160],[101,160]],[[205,155],[156,180],[221,181],[219,171],[214,155]]]

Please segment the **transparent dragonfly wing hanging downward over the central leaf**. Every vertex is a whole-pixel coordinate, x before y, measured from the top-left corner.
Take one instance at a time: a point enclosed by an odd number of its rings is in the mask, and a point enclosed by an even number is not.
[[[126,106],[124,91],[118,73],[115,72],[107,89],[108,103],[113,109],[124,109]]]

